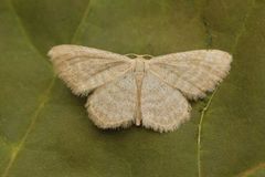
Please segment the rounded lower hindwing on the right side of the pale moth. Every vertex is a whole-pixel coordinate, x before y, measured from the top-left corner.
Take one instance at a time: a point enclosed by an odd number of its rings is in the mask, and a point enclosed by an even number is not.
[[[180,91],[146,72],[141,87],[142,125],[159,132],[176,129],[190,117],[190,105]]]

